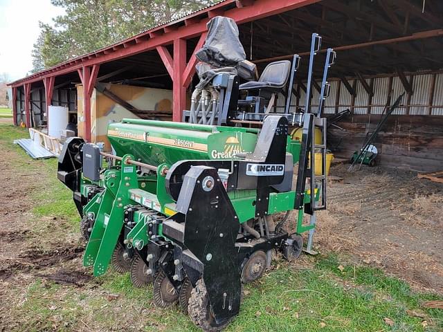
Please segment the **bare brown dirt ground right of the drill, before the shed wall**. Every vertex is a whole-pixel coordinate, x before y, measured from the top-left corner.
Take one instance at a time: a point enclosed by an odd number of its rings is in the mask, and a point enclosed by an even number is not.
[[[318,213],[316,243],[350,252],[415,288],[443,293],[443,185],[417,173],[381,167],[347,172],[328,183],[328,210]]]

